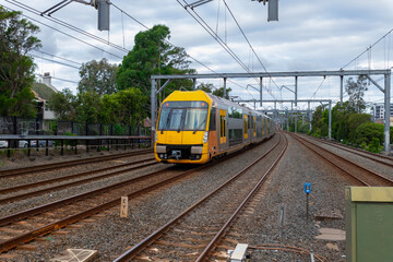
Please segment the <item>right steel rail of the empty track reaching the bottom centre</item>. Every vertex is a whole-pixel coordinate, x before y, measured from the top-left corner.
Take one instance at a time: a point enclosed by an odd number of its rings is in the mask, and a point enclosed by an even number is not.
[[[233,225],[235,219],[238,217],[240,212],[243,210],[245,205],[250,201],[251,198],[255,195],[260,187],[266,181],[267,176],[273,171],[273,169],[277,166],[278,162],[282,159],[284,153],[288,148],[288,140],[285,138],[285,146],[279,153],[277,159],[271,165],[271,167],[265,171],[265,174],[262,176],[262,178],[258,181],[255,187],[250,191],[250,193],[246,196],[246,199],[241,202],[241,204],[236,209],[236,211],[233,213],[233,215],[229,217],[229,219],[225,223],[225,225],[219,229],[219,231],[214,236],[212,241],[207,245],[207,247],[202,251],[202,253],[198,257],[195,262],[204,261],[207,259],[211,251],[216,247],[216,245],[223,239],[225,236],[225,233],[229,229],[229,227]]]

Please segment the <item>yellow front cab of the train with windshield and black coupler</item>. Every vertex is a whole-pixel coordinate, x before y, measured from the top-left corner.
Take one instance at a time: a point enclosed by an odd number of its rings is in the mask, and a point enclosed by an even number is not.
[[[156,128],[158,162],[203,164],[210,160],[211,105],[212,99],[202,91],[176,91],[163,102]]]

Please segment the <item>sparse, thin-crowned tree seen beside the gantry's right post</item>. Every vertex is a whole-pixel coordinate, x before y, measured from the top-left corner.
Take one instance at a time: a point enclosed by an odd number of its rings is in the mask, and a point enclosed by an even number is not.
[[[365,92],[368,90],[367,78],[359,75],[355,82],[353,78],[349,78],[345,85],[345,92],[349,95],[349,106],[354,108],[356,112],[361,112],[366,109],[366,102],[364,100]]]

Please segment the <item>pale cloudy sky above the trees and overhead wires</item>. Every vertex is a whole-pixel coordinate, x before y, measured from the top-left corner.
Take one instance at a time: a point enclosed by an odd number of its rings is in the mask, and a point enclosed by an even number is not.
[[[130,16],[148,28],[155,24],[167,25],[171,32],[170,43],[184,47],[191,57],[209,68],[193,62],[191,67],[199,73],[212,73],[210,69],[219,73],[245,73],[246,70],[182,7],[186,2],[194,1],[111,0],[123,12],[111,5],[109,32],[97,29],[97,11],[82,3],[73,2],[53,13],[52,17],[58,23],[37,13],[61,2],[60,0],[0,0],[0,4],[23,11],[39,25],[38,37],[43,41],[43,52],[34,52],[38,66],[37,74],[50,72],[55,78],[52,84],[58,90],[69,87],[75,93],[79,81],[78,68],[81,63],[103,58],[107,58],[111,63],[120,63],[121,58],[127,55],[122,49],[132,49],[134,35],[145,27]],[[225,2],[230,11],[225,8]],[[281,0],[278,22],[267,22],[267,5],[263,5],[262,2],[251,0],[225,0],[225,2],[213,0],[195,8],[195,13],[191,12],[193,15],[199,15],[226,41],[231,51],[252,72],[264,72],[263,67],[269,72],[340,70],[349,62],[344,69],[390,69],[393,66],[392,34],[388,34],[367,50],[393,28],[392,0]],[[62,22],[98,36],[99,39],[93,39],[64,27],[59,24]],[[108,41],[111,45],[108,45]],[[365,53],[355,59],[361,52]],[[374,80],[383,85],[382,76],[374,76]],[[223,85],[221,80],[204,82],[212,83],[216,87]],[[272,91],[276,98],[283,99],[294,97],[294,94],[287,90],[293,90],[294,83],[293,78],[265,79],[263,82],[266,90]],[[228,82],[227,85],[233,90],[231,95],[241,99],[259,98],[259,94],[253,88],[247,87],[258,85],[253,79],[237,79]],[[300,78],[298,85],[299,99],[340,99],[338,78]],[[279,88],[282,92],[278,91]],[[266,90],[263,94],[264,98],[272,99]],[[365,98],[367,102],[381,103],[383,94],[370,85]],[[318,106],[318,103],[313,105]],[[299,105],[299,108],[306,107],[306,104]]]

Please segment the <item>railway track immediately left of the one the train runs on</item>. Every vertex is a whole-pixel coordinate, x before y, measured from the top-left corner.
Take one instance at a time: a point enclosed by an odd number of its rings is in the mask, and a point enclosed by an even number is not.
[[[138,165],[138,166],[134,166],[134,165]],[[147,158],[147,159],[131,162],[131,163],[127,163],[127,164],[116,165],[116,166],[111,166],[111,167],[105,167],[105,168],[100,168],[100,169],[73,174],[73,175],[69,175],[69,176],[64,176],[64,177],[48,179],[48,180],[44,180],[44,181],[38,181],[38,182],[1,189],[0,195],[15,193],[15,192],[22,191],[22,190],[23,191],[27,191],[29,189],[36,189],[36,190],[20,193],[20,194],[8,195],[5,198],[0,199],[0,204],[4,204],[4,203],[9,203],[9,202],[16,201],[16,200],[22,200],[22,199],[27,199],[27,198],[31,198],[34,195],[39,195],[39,194],[44,194],[44,193],[48,193],[48,192],[55,192],[55,191],[71,188],[71,187],[78,187],[78,186],[81,186],[84,183],[98,181],[100,179],[118,176],[118,175],[121,175],[121,174],[124,174],[128,171],[142,169],[144,167],[148,167],[148,166],[153,166],[153,165],[158,165],[158,163],[154,158]],[[129,166],[133,166],[133,167],[129,167]],[[119,168],[123,168],[123,169],[116,170]],[[100,172],[105,172],[105,171],[108,171],[108,172],[106,172],[104,175],[91,177],[92,175],[100,174]],[[84,177],[88,177],[88,178],[82,179]],[[75,180],[75,179],[78,179],[78,180],[56,186],[56,183],[67,181],[67,180]],[[51,187],[45,188],[45,189],[37,189],[39,187],[47,186],[47,184],[51,184]]]

